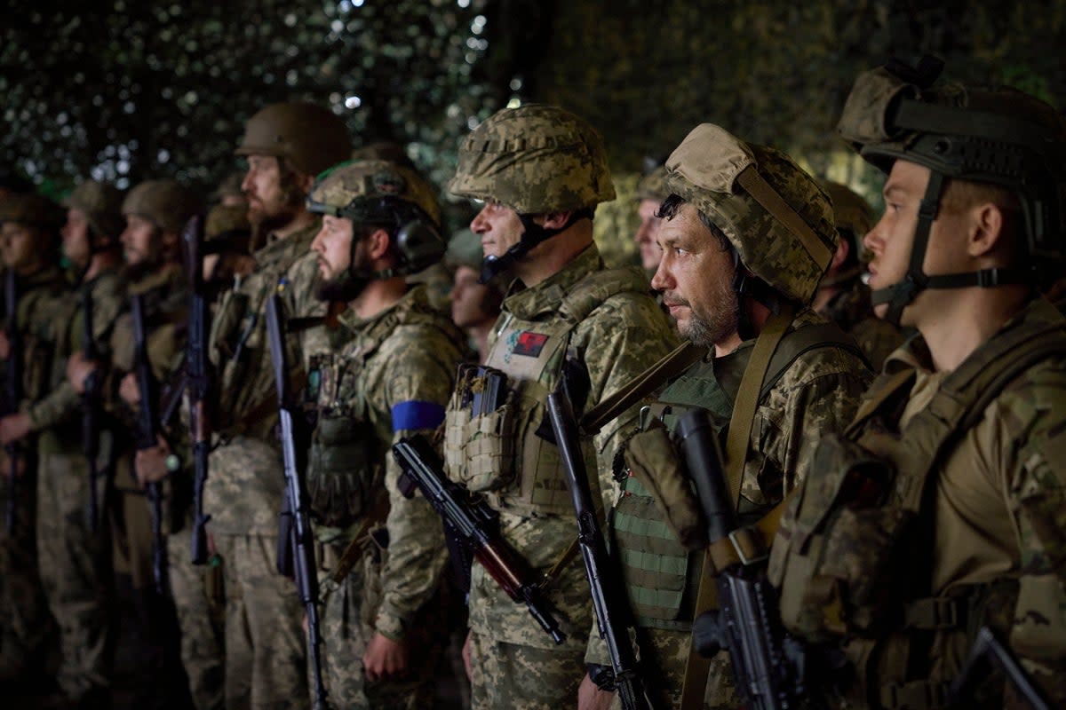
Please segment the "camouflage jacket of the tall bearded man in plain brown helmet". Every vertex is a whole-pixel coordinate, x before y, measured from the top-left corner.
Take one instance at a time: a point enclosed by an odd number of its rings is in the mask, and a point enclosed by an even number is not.
[[[211,452],[204,508],[216,533],[277,533],[285,477],[274,434],[277,395],[264,314],[266,299],[276,292],[290,324],[325,313],[325,304],[314,298],[318,261],[309,250],[318,230],[316,220],[257,251],[256,270],[222,296],[211,324],[219,401],[214,422],[221,445]],[[306,343],[319,330],[290,331],[290,363],[304,361]]]

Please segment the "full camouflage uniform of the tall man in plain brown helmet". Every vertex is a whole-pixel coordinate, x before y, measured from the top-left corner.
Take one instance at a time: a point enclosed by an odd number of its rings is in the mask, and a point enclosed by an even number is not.
[[[209,460],[204,509],[224,571],[229,708],[307,705],[304,609],[293,583],[275,567],[285,476],[274,437],[277,395],[262,314],[281,279],[290,314],[324,311],[312,300],[318,264],[308,253],[318,229],[316,222],[257,251],[256,271],[223,295],[211,326],[221,434]]]

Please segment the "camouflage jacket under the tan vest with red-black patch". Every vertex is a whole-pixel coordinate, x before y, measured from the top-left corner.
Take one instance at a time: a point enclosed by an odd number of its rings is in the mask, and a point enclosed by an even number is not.
[[[522,348],[529,345],[520,337],[500,337],[500,333],[507,331],[511,320],[558,323],[563,317],[560,309],[567,294],[603,270],[603,261],[593,245],[535,286],[512,288],[490,335],[489,361],[514,362],[522,353]],[[639,276],[635,278],[641,279]],[[588,373],[591,387],[584,410],[595,407],[658,362],[674,348],[676,339],[666,316],[643,290],[624,293],[593,310],[569,334],[569,345],[576,348]],[[607,425],[589,443],[598,469],[589,467],[591,483],[593,490],[600,491],[605,499],[613,498],[616,490],[611,477],[615,450],[624,433],[632,429],[636,415],[636,409],[631,409]],[[523,441],[521,432],[516,441],[515,447],[520,449]],[[522,457],[521,450],[515,451],[516,461],[521,461]],[[511,508],[505,501],[497,505],[504,540],[535,571],[544,573],[551,567],[574,540],[576,522],[570,513]],[[564,647],[570,650],[583,648],[592,624],[592,607],[584,568],[578,560],[566,565],[548,585],[548,597],[559,612],[561,627],[569,635]],[[531,618],[524,605],[512,601],[479,564],[474,565],[471,577],[470,627],[497,641],[554,647],[551,639]]]

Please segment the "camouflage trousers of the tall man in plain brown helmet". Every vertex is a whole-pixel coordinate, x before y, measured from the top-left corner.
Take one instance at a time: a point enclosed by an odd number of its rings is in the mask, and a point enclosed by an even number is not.
[[[226,590],[226,708],[309,707],[304,607],[277,574],[277,538],[215,534]]]

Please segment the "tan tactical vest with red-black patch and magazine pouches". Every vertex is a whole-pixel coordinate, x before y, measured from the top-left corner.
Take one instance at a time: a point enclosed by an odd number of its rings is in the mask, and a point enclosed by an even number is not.
[[[471,419],[459,391],[452,395],[445,439],[449,477],[484,494],[494,508],[572,513],[559,448],[536,433],[545,403],[559,383],[574,329],[611,299],[646,292],[647,282],[630,269],[596,271],[563,297],[555,317],[523,320],[505,313],[485,364],[506,373],[506,400]],[[583,451],[588,470],[596,470],[592,445],[584,443]]]

